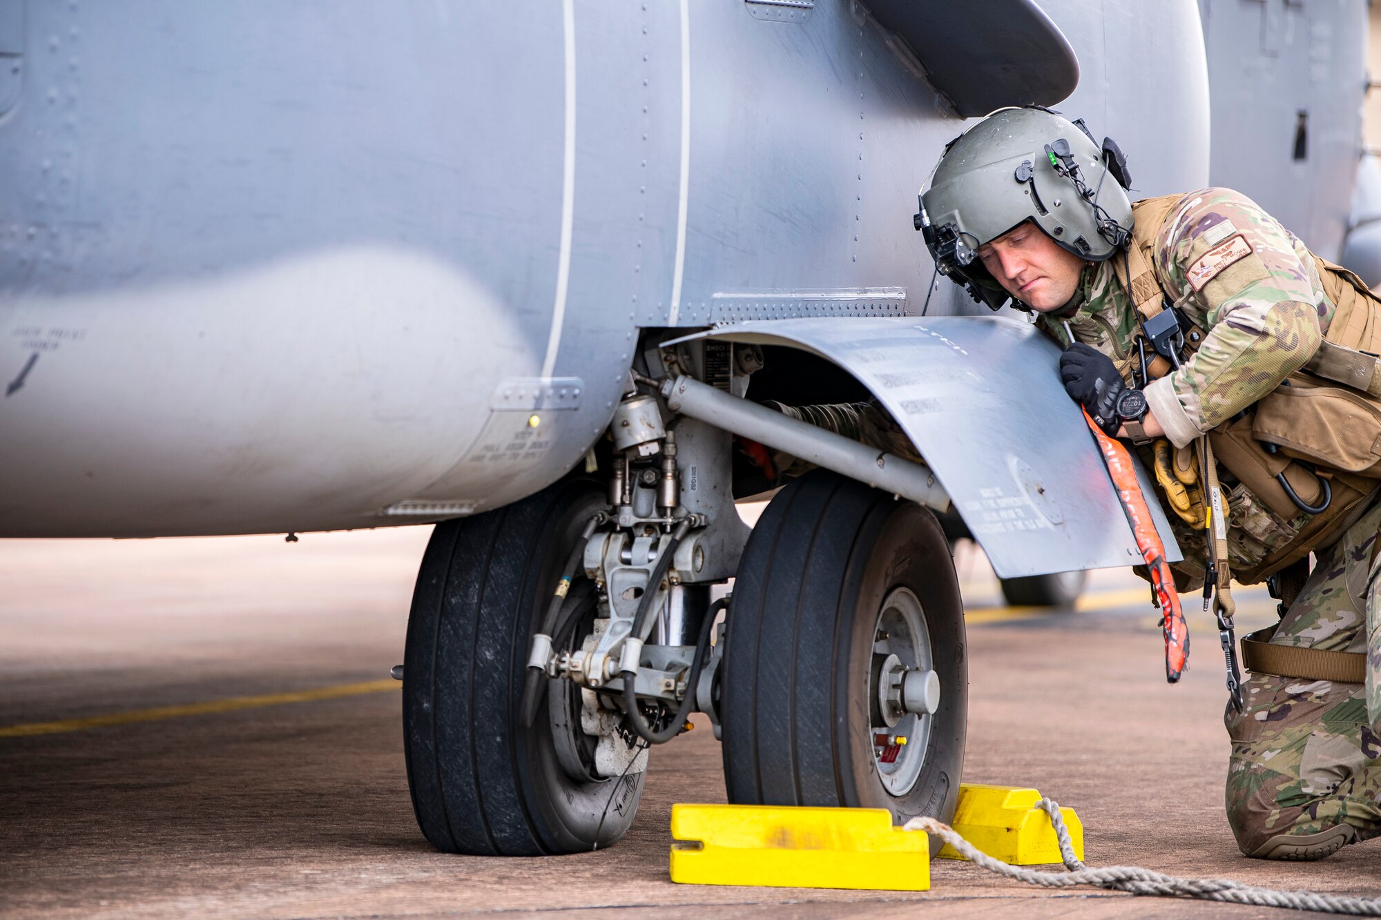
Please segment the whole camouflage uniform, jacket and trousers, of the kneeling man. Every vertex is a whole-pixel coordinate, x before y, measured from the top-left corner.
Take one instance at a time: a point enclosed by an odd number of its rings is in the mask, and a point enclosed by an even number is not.
[[[1246,246],[1235,242],[1239,236]],[[1300,370],[1319,349],[1334,308],[1309,250],[1259,206],[1229,189],[1186,195],[1161,225],[1155,261],[1167,298],[1206,330],[1197,352],[1179,370],[1145,388],[1166,435],[1185,446]],[[1137,314],[1112,261],[1088,264],[1070,304],[1036,322],[1069,345],[1068,322],[1076,341],[1109,355],[1134,384]],[[793,414],[871,446],[917,456],[876,403],[807,406]],[[1142,460],[1152,461],[1149,448],[1142,449]],[[1236,565],[1261,561],[1311,518],[1305,512],[1280,518],[1240,483],[1225,492],[1228,547]],[[1167,517],[1185,553],[1185,562],[1175,568],[1181,590],[1188,590],[1201,583],[1207,568],[1204,532],[1178,515]],[[1225,721],[1233,739],[1228,818],[1247,855],[1316,858],[1381,833],[1381,601],[1369,580],[1378,526],[1381,504],[1333,547],[1317,551],[1317,566],[1272,640],[1334,651],[1370,645],[1366,688],[1253,674],[1244,685],[1247,711],[1228,707]],[[1300,845],[1266,843],[1277,834],[1290,834]]]

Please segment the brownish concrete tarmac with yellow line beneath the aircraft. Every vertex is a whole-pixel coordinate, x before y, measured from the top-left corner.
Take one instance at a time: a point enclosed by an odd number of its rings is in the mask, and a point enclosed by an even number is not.
[[[677,885],[674,801],[724,801],[707,725],[653,751],[642,808],[606,852],[434,852],[413,821],[399,696],[429,528],[157,542],[0,542],[0,913],[57,917],[1277,916],[1047,891],[963,862],[932,890]],[[1381,843],[1322,863],[1243,859],[1211,623],[1186,600],[1192,670],[1164,682],[1156,612],[1130,573],[1074,611],[1000,606],[981,554],[969,608],[964,779],[1073,807],[1094,866],[1381,895]],[[1240,591],[1242,630],[1273,619]],[[326,689],[323,689],[326,688]],[[1058,869],[1058,866],[1055,868]]]

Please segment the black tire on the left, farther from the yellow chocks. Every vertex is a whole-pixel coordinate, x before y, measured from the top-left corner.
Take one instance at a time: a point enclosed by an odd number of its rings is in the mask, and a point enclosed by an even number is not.
[[[569,703],[557,693],[579,693],[573,685],[548,681],[533,727],[519,718],[530,637],[601,507],[598,483],[565,479],[432,533],[407,620],[403,747],[417,823],[443,852],[586,852],[612,845],[632,823],[644,774],[573,778],[562,767],[555,732],[570,725],[570,710],[559,717],[552,707]],[[591,587],[583,575],[574,580],[562,620],[592,622]],[[579,633],[570,631],[574,646]],[[592,739],[565,743],[569,764],[569,745]]]

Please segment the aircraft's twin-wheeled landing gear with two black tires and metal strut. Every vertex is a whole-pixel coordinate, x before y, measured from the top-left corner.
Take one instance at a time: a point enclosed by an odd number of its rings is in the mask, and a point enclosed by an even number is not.
[[[731,801],[953,816],[968,678],[943,529],[914,501],[820,468],[782,489],[750,536],[715,412],[813,435],[725,408],[742,401],[699,377],[729,372],[742,392],[747,372],[713,344],[652,351],[668,376],[630,376],[606,482],[568,478],[436,526],[407,627],[403,728],[413,808],[439,850],[613,844],[648,749],[693,710],[722,738]],[[876,454],[829,437],[845,472],[881,477]],[[902,493],[943,495],[924,467],[887,468]],[[715,633],[710,586],[735,573]]]

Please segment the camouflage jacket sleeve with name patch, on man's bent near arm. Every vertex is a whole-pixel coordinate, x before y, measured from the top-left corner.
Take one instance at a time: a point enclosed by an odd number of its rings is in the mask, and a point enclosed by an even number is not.
[[[1207,330],[1184,367],[1146,387],[1175,446],[1265,396],[1319,349],[1330,305],[1309,250],[1239,192],[1186,195],[1156,238],[1155,268]]]

